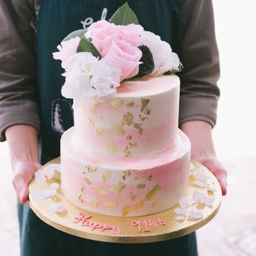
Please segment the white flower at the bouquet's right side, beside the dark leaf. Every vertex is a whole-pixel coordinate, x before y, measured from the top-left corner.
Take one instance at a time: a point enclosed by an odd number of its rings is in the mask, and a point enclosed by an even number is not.
[[[179,70],[179,57],[172,52],[167,42],[162,41],[160,36],[152,32],[142,31],[140,35],[145,37],[143,45],[147,46],[153,55],[155,68],[151,75],[162,75],[167,71]]]

